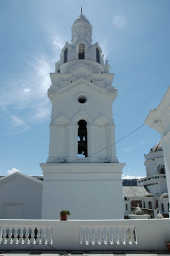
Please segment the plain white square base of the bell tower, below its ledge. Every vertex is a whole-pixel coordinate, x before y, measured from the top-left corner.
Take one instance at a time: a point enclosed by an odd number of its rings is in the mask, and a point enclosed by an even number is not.
[[[123,219],[122,169],[125,163],[41,163],[42,219]]]

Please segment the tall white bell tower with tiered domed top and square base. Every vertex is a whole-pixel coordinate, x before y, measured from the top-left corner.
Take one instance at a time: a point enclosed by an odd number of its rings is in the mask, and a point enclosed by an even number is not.
[[[42,219],[123,218],[122,169],[115,149],[114,74],[81,13],[50,73],[50,147],[43,170]]]

